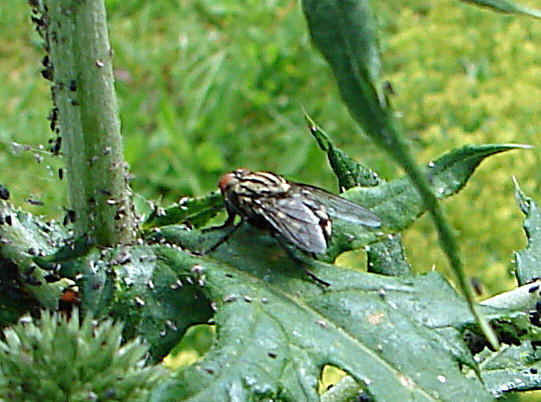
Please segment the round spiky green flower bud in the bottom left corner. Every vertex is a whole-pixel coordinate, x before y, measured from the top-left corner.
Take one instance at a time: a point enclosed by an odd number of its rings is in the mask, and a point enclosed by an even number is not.
[[[144,400],[163,373],[145,366],[147,347],[139,340],[121,344],[122,325],[80,324],[42,312],[39,322],[23,317],[0,341],[0,395],[16,401]]]

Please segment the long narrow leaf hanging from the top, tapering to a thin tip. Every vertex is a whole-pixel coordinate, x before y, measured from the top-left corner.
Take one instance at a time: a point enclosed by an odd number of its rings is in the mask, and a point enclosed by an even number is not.
[[[458,244],[430,183],[415,162],[379,80],[376,21],[368,0],[304,0],[303,9],[313,42],[329,62],[340,94],[365,133],[392,156],[411,178],[425,208],[432,215],[440,244],[457,282],[491,344],[497,340],[477,313],[466,280]]]

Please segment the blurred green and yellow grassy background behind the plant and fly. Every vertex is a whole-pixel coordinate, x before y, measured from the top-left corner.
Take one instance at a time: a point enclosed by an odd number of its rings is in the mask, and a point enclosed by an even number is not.
[[[348,116],[329,68],[310,45],[298,1],[106,3],[125,156],[142,197],[167,205],[201,195],[236,167],[335,191],[302,107],[351,156],[388,180],[402,174]],[[536,145],[540,21],[456,1],[374,6],[384,78],[421,163],[468,143]],[[14,203],[61,219],[62,161],[40,149],[52,137],[51,103],[26,2],[2,2],[0,32],[0,183]],[[537,197],[539,158],[537,149],[496,156],[446,202],[468,274],[481,280],[485,295],[514,284],[512,251],[525,239],[511,176]],[[29,198],[44,205],[30,205]],[[405,243],[415,269],[446,272],[426,217],[406,232]]]

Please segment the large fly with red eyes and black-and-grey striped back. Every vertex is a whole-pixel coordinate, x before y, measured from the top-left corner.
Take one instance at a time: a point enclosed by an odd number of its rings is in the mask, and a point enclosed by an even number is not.
[[[381,226],[380,219],[360,205],[271,172],[237,169],[223,175],[218,186],[228,213],[223,226],[232,225],[237,215],[241,221],[207,252],[225,242],[243,222],[267,229],[278,240],[284,239],[299,250],[313,254],[327,251],[332,218],[372,228]]]

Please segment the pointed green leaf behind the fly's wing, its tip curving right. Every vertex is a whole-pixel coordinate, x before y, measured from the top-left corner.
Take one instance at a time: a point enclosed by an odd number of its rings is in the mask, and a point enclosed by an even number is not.
[[[444,154],[424,169],[434,193],[443,199],[458,192],[477,166],[490,155],[522,148],[521,145],[469,145]],[[334,258],[339,253],[373,243],[383,232],[397,233],[415,221],[425,205],[408,177],[377,187],[353,188],[342,194],[353,202],[369,208],[383,222],[382,231],[370,230],[344,221],[336,221],[333,238],[327,251]]]

